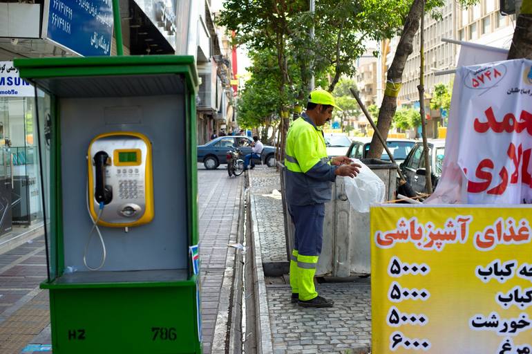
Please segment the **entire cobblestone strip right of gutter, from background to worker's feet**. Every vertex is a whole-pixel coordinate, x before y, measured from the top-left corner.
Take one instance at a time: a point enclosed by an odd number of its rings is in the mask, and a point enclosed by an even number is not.
[[[272,191],[281,189],[276,169],[249,172],[254,218],[263,262],[287,261],[283,205]],[[287,277],[266,278],[272,348],[284,353],[368,353],[371,342],[370,279],[320,283],[318,292],[334,300],[333,308],[301,308],[290,302]]]

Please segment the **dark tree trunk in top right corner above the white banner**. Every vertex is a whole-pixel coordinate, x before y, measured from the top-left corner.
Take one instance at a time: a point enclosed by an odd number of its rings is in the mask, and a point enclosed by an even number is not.
[[[508,59],[532,59],[532,0],[523,0]]]

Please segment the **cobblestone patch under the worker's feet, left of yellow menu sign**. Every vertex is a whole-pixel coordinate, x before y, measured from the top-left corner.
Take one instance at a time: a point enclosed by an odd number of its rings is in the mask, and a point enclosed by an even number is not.
[[[267,286],[274,353],[342,353],[369,346],[370,280],[321,283],[320,295],[334,300],[330,308],[301,308],[290,302],[289,286]]]

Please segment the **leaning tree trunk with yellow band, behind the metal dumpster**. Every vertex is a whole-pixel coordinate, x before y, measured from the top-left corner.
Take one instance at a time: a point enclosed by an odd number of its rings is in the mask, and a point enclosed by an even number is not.
[[[388,138],[388,131],[392,125],[392,118],[395,115],[397,109],[397,96],[401,89],[401,80],[403,78],[403,70],[406,64],[408,55],[412,53],[412,41],[414,35],[419,28],[419,19],[421,19],[421,7],[424,0],[414,0],[410,12],[405,20],[403,27],[403,34],[399,39],[397,50],[392,61],[392,65],[388,69],[388,80],[386,82],[386,91],[384,91],[384,97],[379,110],[379,119],[377,120],[377,129],[381,132],[384,139]],[[374,134],[368,158],[380,158],[384,147]]]

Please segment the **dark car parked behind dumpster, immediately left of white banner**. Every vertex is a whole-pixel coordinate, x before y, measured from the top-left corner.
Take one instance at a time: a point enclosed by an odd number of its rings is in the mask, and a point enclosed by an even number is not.
[[[428,149],[430,150],[428,160],[430,161],[434,189],[441,177],[441,165],[443,165],[445,156],[445,140],[428,141]],[[420,194],[427,192],[425,187],[426,169],[423,142],[416,142],[408,156],[406,156],[406,160],[399,165],[399,168],[401,168],[403,175],[415,192]]]

